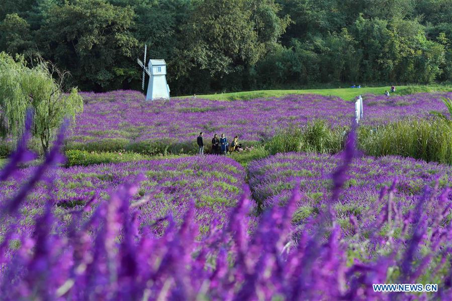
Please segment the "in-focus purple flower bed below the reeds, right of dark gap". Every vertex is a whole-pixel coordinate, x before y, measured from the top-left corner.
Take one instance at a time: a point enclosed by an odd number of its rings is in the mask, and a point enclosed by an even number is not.
[[[300,179],[301,199],[295,221],[304,221],[325,208],[332,196],[332,172],[341,162],[338,155],[307,153],[277,154],[248,165],[253,196],[262,207],[283,205]],[[334,203],[337,217],[360,220],[365,212],[382,206],[378,203],[382,187],[397,184],[394,202],[402,214],[413,208],[422,197],[425,186],[440,188],[452,182],[452,168],[412,158],[362,156],[353,159],[346,173],[344,190]],[[449,202],[452,195],[449,196]]]

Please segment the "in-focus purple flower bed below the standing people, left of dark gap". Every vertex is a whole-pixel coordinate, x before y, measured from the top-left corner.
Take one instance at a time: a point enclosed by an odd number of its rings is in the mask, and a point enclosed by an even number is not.
[[[36,167],[19,170],[9,181],[0,183],[0,200],[19,190],[21,179],[30,177]],[[47,176],[53,179],[57,212],[73,210],[93,202],[105,202],[112,191],[142,174],[139,189],[131,200],[139,202],[151,194],[152,202],[140,206],[139,221],[150,225],[171,214],[176,221],[195,203],[195,217],[206,231],[214,219],[225,222],[244,186],[245,171],[236,161],[223,156],[196,156],[152,161],[59,167]],[[49,185],[38,184],[28,197],[24,214],[37,213],[48,197]]]

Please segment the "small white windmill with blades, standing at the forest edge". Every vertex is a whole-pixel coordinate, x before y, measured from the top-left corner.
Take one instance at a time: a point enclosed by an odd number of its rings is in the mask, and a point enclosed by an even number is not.
[[[169,99],[169,86],[166,83],[166,62],[165,60],[149,60],[146,67],[146,45],[144,45],[143,62],[137,58],[138,65],[143,68],[143,82],[141,88],[144,90],[145,72],[149,75],[149,83],[147,84],[146,101],[153,101],[156,98]]]

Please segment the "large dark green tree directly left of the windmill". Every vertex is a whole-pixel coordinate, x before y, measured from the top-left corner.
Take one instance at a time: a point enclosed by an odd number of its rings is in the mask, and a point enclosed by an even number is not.
[[[39,30],[44,58],[63,69],[85,89],[121,88],[139,78],[138,40],[131,7],[105,0],[74,0],[53,7]]]

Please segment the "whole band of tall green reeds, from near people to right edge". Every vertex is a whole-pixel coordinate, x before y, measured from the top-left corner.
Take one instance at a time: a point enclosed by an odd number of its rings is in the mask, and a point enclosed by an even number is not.
[[[303,128],[282,130],[264,143],[270,154],[316,152],[334,154],[343,148],[344,131],[317,121]],[[452,126],[442,120],[404,120],[358,128],[358,147],[367,155],[400,155],[452,165]]]

